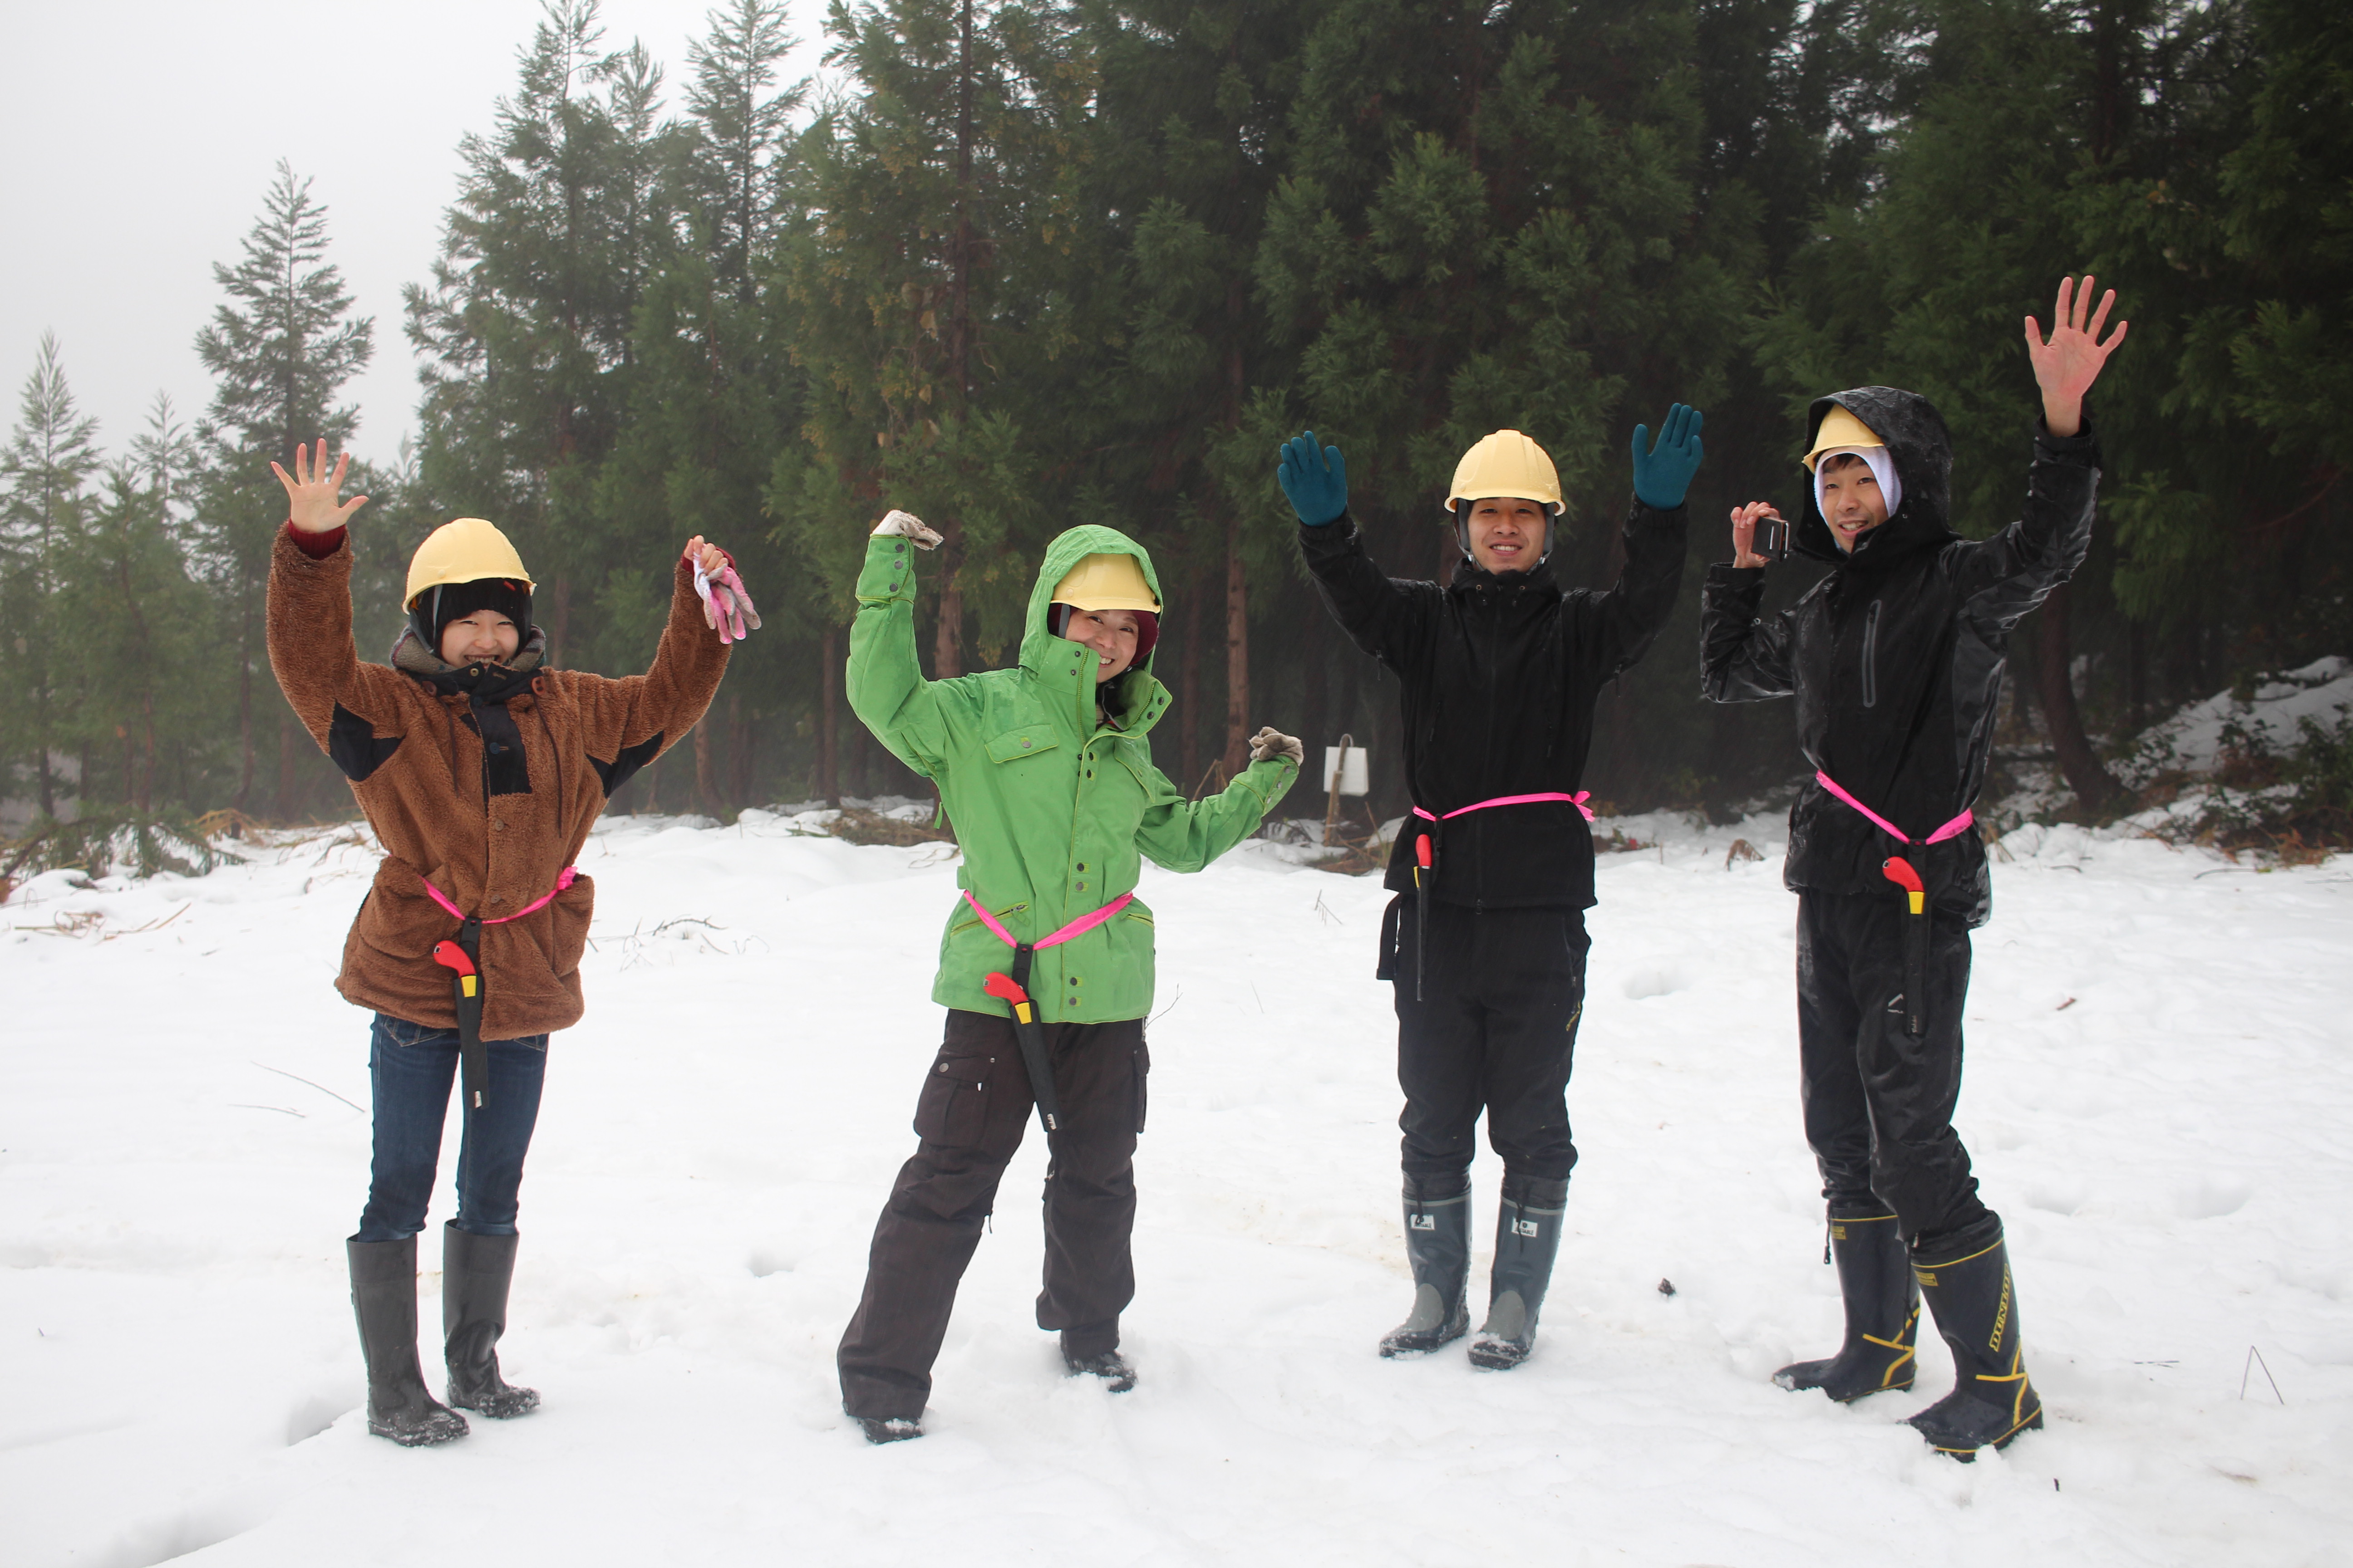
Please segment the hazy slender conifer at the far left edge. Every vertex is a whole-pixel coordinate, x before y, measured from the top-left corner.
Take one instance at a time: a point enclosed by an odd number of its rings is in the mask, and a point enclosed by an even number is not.
[[[66,623],[56,583],[78,529],[82,487],[99,470],[96,418],[75,409],[56,334],[40,334],[33,374],[16,402],[16,430],[0,454],[7,480],[0,510],[0,715],[12,743],[0,764],[31,762],[35,799],[56,816],[59,780],[52,748],[59,733],[59,642]]]

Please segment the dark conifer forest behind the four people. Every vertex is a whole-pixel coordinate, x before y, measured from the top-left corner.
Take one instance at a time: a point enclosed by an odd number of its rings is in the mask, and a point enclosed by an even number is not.
[[[1346,731],[1393,816],[1395,689],[1308,588],[1278,442],[1339,444],[1377,559],[1435,576],[1457,456],[1525,430],[1567,494],[1555,569],[1607,585],[1633,425],[1675,400],[1706,411],[1682,599],[1586,783],[1755,802],[1800,762],[1786,705],[1699,693],[1727,510],[1791,510],[1807,402],[1889,383],[1953,428],[1955,524],[2000,529],[2038,407],[2021,317],[2087,270],[2132,322],[2092,402],[2099,531],[2012,642],[2000,755],[2111,813],[2141,724],[2353,654],[2353,7],[835,0],[819,78],[784,75],[793,45],[776,0],[725,0],[682,61],[548,0],[400,320],[353,310],[332,172],[280,165],[188,322],[207,407],[101,447],[54,341],[16,367],[0,797],[351,813],[261,646],[268,465],[339,449],[386,353],[416,404],[365,414],[416,437],[346,487],[362,658],[461,515],[515,541],[562,665],[642,668],[689,534],[758,595],[692,745],[616,811],[929,795],[840,689],[866,531],[906,508],[946,536],[936,675],[1009,663],[1045,541],[1113,524],[1165,590],[1162,771],[1193,792],[1259,724],[1311,757]]]

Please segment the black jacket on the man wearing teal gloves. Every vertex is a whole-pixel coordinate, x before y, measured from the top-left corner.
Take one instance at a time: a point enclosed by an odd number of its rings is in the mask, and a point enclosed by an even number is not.
[[[1577,795],[1593,698],[1659,635],[1682,585],[1687,510],[1633,503],[1617,588],[1562,590],[1548,559],[1494,574],[1464,557],[1454,581],[1381,576],[1355,520],[1299,527],[1299,550],[1355,646],[1405,684],[1405,783],[1435,816],[1501,795]],[[1407,818],[1386,886],[1414,891],[1414,839],[1438,846],[1431,898],[1473,910],[1584,910],[1593,832],[1567,802],[1494,806],[1433,825]]]

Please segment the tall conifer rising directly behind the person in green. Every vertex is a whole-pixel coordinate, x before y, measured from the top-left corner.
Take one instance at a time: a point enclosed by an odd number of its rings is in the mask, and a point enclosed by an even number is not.
[[[1054,5],[838,2],[826,33],[859,96],[831,103],[793,160],[809,451],[779,463],[772,498],[805,538],[882,505],[932,522],[946,536],[934,665],[951,677],[967,635],[984,656],[1019,639],[1052,520],[1021,433],[1031,409],[1059,407],[1054,296],[1094,73]]]

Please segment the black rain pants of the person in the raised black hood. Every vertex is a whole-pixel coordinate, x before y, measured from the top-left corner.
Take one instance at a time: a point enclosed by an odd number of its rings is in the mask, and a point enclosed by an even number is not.
[[[1798,896],[1805,1140],[1840,1218],[1887,1213],[1906,1241],[1995,1225],[1953,1131],[1969,929],[1929,912],[1927,1034],[1904,1027],[1904,896]]]

